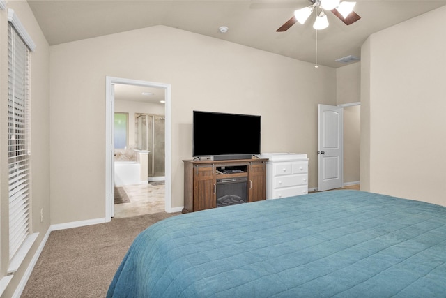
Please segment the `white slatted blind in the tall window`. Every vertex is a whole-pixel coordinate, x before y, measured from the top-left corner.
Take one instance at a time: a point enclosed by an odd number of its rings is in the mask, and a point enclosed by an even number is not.
[[[8,23],[9,258],[30,232],[29,49]]]

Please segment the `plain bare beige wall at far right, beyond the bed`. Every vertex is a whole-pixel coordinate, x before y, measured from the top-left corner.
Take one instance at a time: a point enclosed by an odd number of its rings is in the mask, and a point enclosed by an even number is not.
[[[443,6],[363,46],[370,191],[446,206],[445,28]]]

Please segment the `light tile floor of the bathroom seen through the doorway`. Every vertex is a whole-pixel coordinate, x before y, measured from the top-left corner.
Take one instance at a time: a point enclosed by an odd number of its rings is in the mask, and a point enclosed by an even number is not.
[[[164,211],[164,184],[135,184],[123,186],[130,203],[115,204],[114,218],[123,218]]]

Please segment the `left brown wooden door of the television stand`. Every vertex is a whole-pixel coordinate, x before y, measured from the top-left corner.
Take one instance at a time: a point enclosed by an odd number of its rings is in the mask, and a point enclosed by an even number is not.
[[[216,207],[215,174],[212,165],[194,168],[194,211]]]

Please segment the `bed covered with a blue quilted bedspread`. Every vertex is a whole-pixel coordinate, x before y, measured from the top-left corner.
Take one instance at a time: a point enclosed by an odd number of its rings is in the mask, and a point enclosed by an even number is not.
[[[173,216],[107,297],[446,297],[446,207],[340,190]]]

